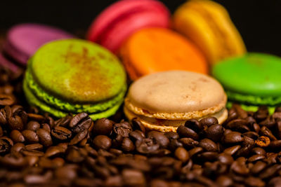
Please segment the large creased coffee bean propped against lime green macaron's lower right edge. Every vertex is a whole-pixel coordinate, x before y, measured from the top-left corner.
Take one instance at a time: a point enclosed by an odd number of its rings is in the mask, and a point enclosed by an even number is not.
[[[87,113],[78,113],[72,118],[72,120],[70,120],[69,127],[73,132],[79,133],[84,130],[88,130],[91,123],[92,120]]]

